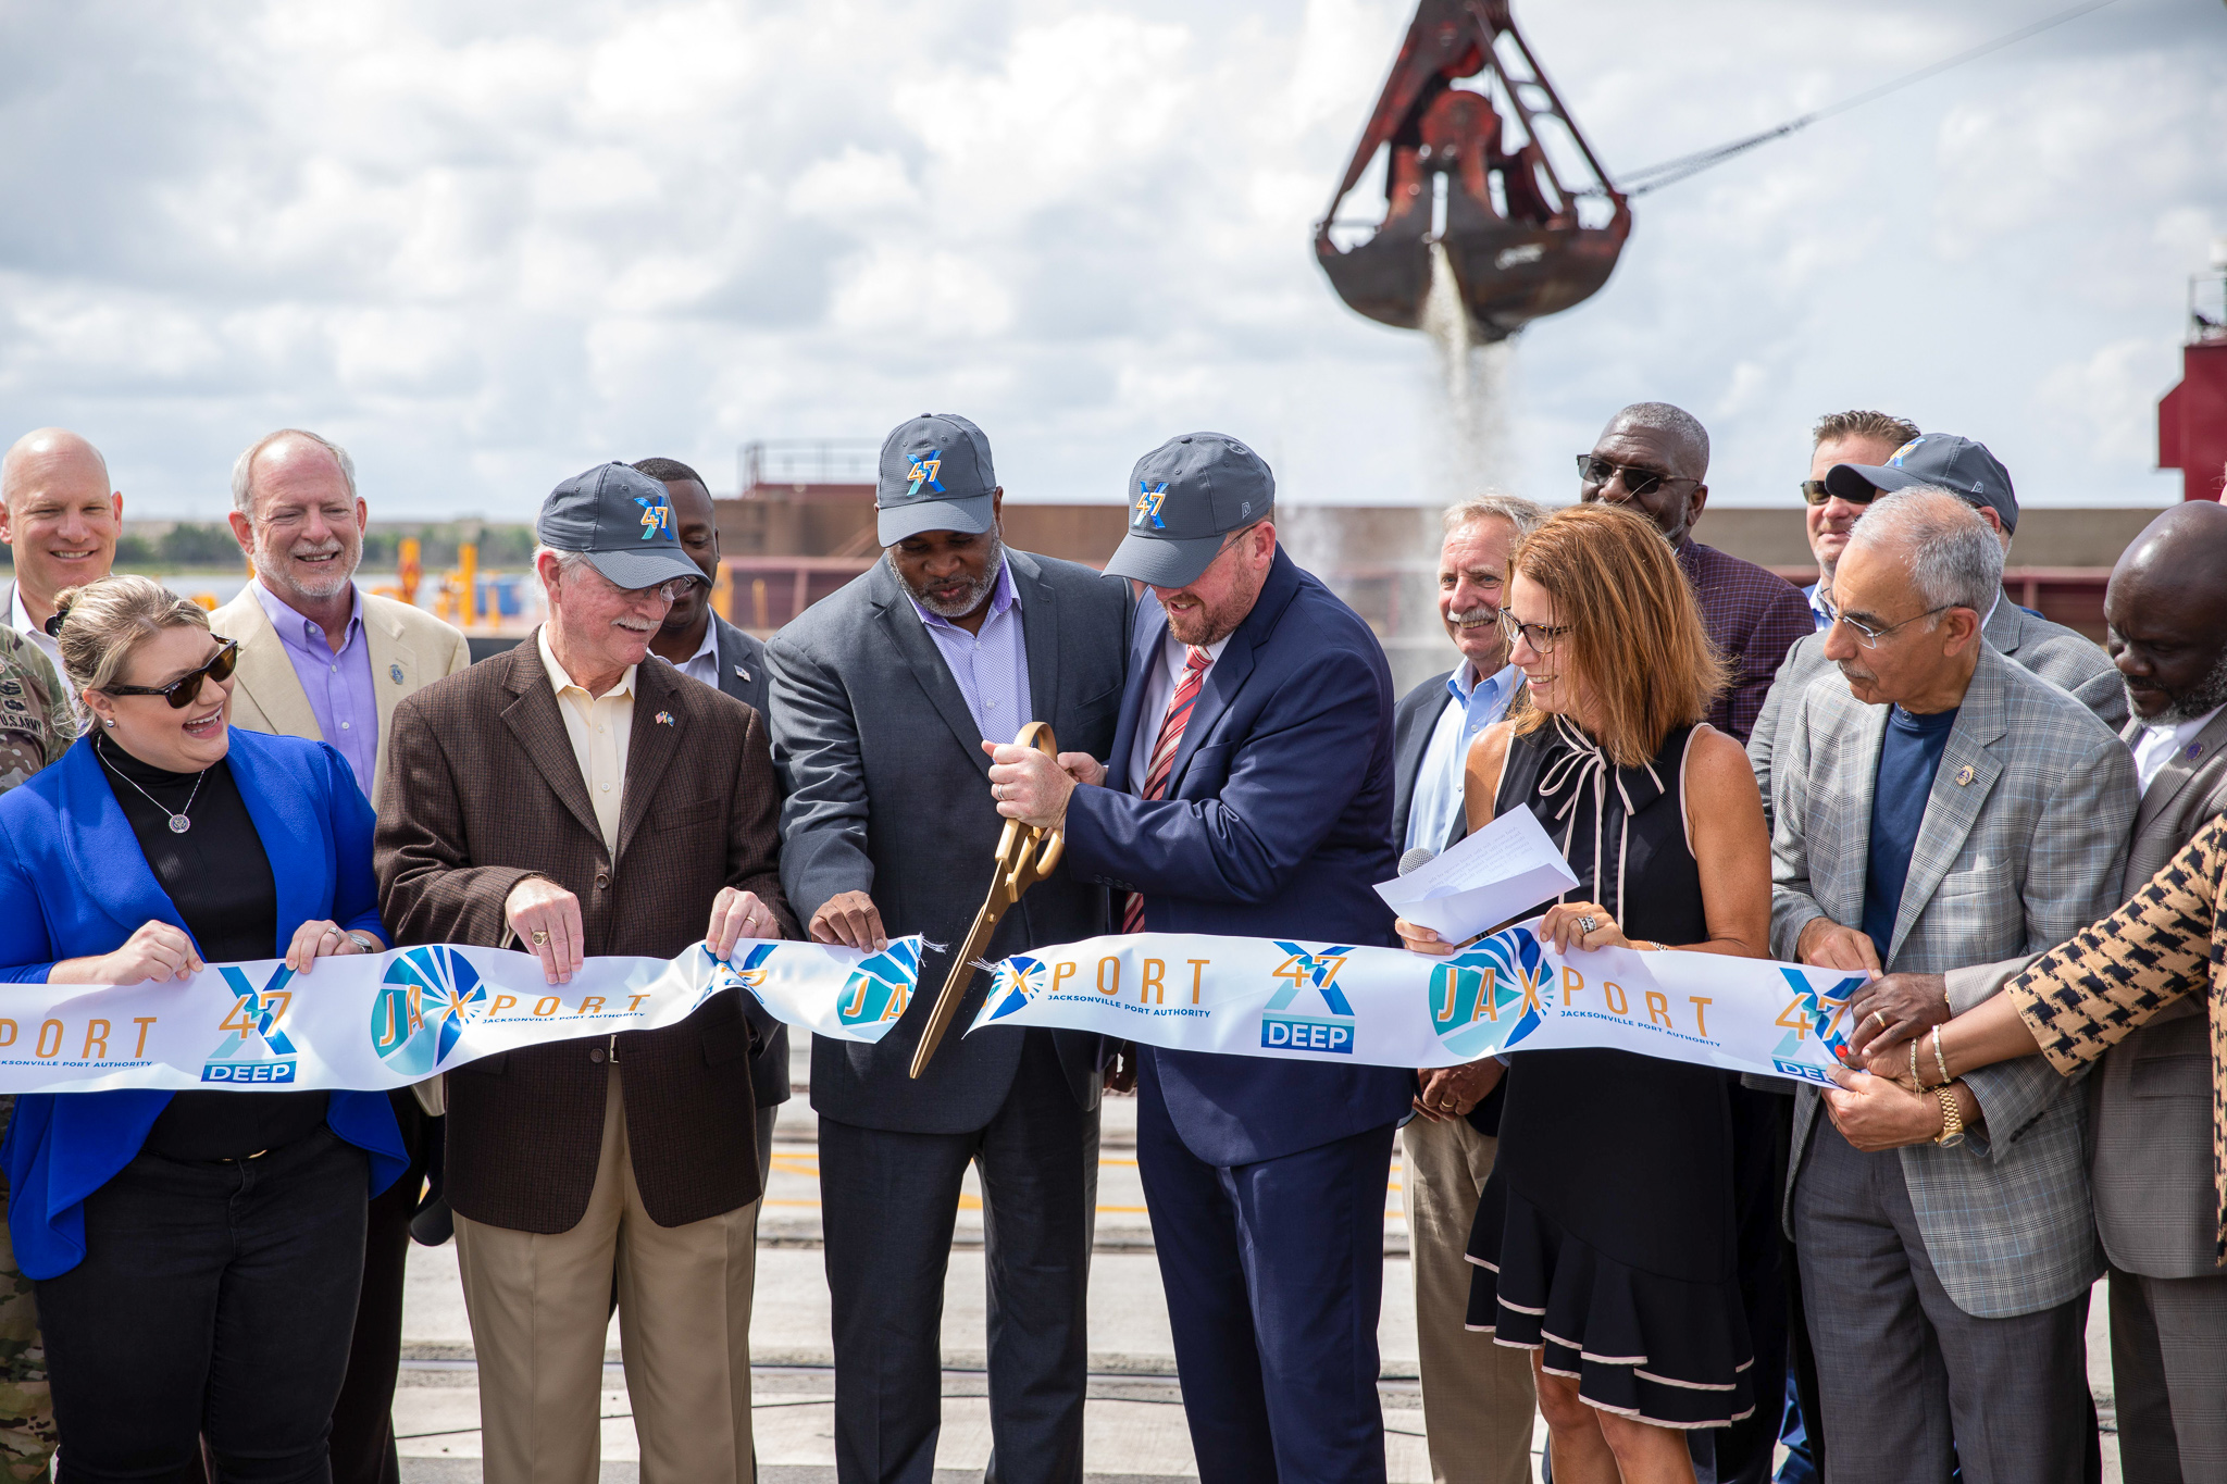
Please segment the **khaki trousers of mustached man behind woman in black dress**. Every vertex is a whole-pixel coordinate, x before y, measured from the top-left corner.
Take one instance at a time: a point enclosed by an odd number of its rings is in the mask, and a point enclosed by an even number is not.
[[[1477,1268],[1463,1253],[1497,1148],[1499,1139],[1477,1132],[1468,1119],[1432,1124],[1416,1117],[1401,1130],[1423,1433],[1434,1484],[1530,1484],[1532,1477],[1539,1395],[1530,1351],[1492,1344],[1492,1335],[1465,1328]]]

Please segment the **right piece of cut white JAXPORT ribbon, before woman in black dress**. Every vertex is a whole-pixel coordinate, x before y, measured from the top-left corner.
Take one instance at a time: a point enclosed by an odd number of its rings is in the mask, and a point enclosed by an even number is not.
[[[1405,1068],[1590,1046],[1828,1084],[1848,997],[1866,979],[1706,952],[1557,954],[1534,923],[1443,959],[1140,932],[998,963],[969,1035],[1053,1026],[1167,1050]]]

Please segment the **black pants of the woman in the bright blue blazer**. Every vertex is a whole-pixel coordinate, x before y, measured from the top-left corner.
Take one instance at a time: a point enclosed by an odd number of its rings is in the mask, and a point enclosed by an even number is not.
[[[236,1164],[140,1155],[38,1282],[62,1484],[323,1484],[363,1273],[367,1157],[330,1128]]]

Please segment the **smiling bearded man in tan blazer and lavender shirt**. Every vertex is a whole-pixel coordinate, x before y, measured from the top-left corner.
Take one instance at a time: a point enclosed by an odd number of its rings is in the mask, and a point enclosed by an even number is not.
[[[209,614],[209,627],[241,645],[232,725],[330,741],[376,805],[394,703],[470,665],[463,634],[356,587],[365,507],[343,447],[296,427],[269,434],[232,465],[232,534],[256,570]],[[408,1092],[392,1104],[412,1166],[372,1201],[356,1337],[332,1413],[334,1484],[394,1484],[399,1468],[403,1264],[441,1121]]]

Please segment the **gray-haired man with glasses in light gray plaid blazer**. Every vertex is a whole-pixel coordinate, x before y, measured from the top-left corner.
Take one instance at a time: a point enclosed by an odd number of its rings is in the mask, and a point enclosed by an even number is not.
[[[2002,547],[1953,494],[1877,501],[1773,779],[1779,959],[1895,979],[2047,950],[2118,903],[2133,763],[2093,712],[1980,636]],[[1846,683],[1842,683],[1842,679]],[[1982,968],[1984,972],[1984,968]],[[1949,983],[1953,1008],[1973,1001]],[[2082,1090],[2042,1063],[1924,1092],[1851,1072],[1795,1104],[1786,1215],[1835,1482],[2082,1477],[2082,1328],[2102,1270]],[[1819,1104],[1831,1115],[1817,1126]]]

